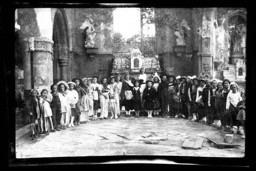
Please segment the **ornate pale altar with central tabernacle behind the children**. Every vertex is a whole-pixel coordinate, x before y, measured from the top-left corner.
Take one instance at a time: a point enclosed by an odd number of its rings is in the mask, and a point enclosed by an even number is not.
[[[131,53],[125,57],[115,57],[113,62],[113,69],[111,72],[112,76],[121,75],[124,78],[126,72],[129,72],[132,78],[140,73],[141,66],[146,68],[145,73],[149,76],[151,80],[154,76],[154,73],[157,72],[158,75],[163,72],[161,71],[159,65],[159,57],[144,57],[139,49],[132,49]]]

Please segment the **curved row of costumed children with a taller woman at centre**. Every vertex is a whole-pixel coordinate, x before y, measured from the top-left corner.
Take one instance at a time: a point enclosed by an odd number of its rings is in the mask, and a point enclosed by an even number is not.
[[[118,75],[102,77],[100,84],[97,82],[98,76],[73,78],[72,82],[53,84],[51,92],[33,89],[26,101],[29,117],[34,119],[33,136],[87,123],[89,116],[97,120],[98,109],[101,109],[101,120],[108,119],[108,112],[112,114],[110,119],[117,119],[122,106],[126,118],[131,117],[131,110],[135,110],[135,118],[146,110],[148,118],[152,118],[152,113],[153,117],[160,117],[161,112],[162,118],[168,115],[174,118],[177,114],[178,118],[223,129],[229,134],[237,126],[237,134],[242,135],[242,125],[245,133],[245,93],[240,96],[237,84],[228,79],[211,81],[165,74],[160,78],[155,73],[149,80],[142,67],[136,78],[127,72],[124,81]]]

